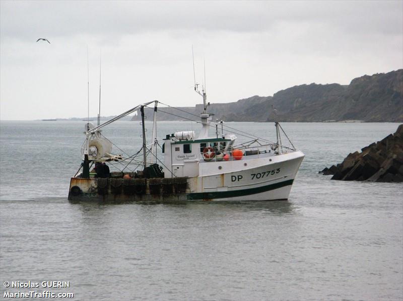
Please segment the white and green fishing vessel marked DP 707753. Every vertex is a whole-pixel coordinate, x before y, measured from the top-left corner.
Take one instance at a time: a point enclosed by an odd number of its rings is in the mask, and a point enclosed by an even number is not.
[[[159,142],[156,133],[158,101],[138,105],[98,126],[87,123],[82,163],[71,178],[69,199],[100,202],[288,199],[304,154],[294,147],[280,123],[275,122],[276,142],[238,131],[252,139],[238,144],[232,128],[223,121],[212,122],[204,87],[200,92],[195,84],[194,89],[203,96],[204,105],[197,136],[194,131],[181,131],[169,133]],[[147,144],[144,110],[153,103],[152,139]],[[100,130],[139,110],[143,145],[129,157],[114,154],[112,143]],[[211,127],[216,130],[213,137],[209,136]],[[282,135],[288,145],[282,144]],[[161,144],[163,157],[158,158],[157,147]],[[107,168],[105,173],[102,163],[108,162],[138,167],[112,172]]]

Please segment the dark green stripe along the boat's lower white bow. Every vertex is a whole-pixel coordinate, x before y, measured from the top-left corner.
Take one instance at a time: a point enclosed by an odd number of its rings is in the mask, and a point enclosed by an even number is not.
[[[187,195],[187,199],[188,200],[214,199],[214,198],[245,196],[245,195],[256,194],[256,193],[265,192],[265,191],[269,191],[269,190],[274,190],[277,188],[282,188],[282,187],[285,187],[288,185],[292,185],[293,182],[294,182],[294,180],[287,180],[287,181],[276,183],[276,184],[270,184],[270,185],[266,185],[266,186],[260,186],[260,187],[255,187],[255,188],[242,189],[242,190],[189,193]]]

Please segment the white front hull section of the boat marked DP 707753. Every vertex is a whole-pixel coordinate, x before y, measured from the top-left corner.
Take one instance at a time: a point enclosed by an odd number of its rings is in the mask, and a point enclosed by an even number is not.
[[[187,199],[226,201],[288,199],[291,185],[303,158],[304,154],[296,151],[277,156],[250,156],[232,161],[229,166],[221,162],[203,164],[200,171],[204,174],[188,180],[190,193]],[[223,170],[223,165],[226,165],[226,170]]]

